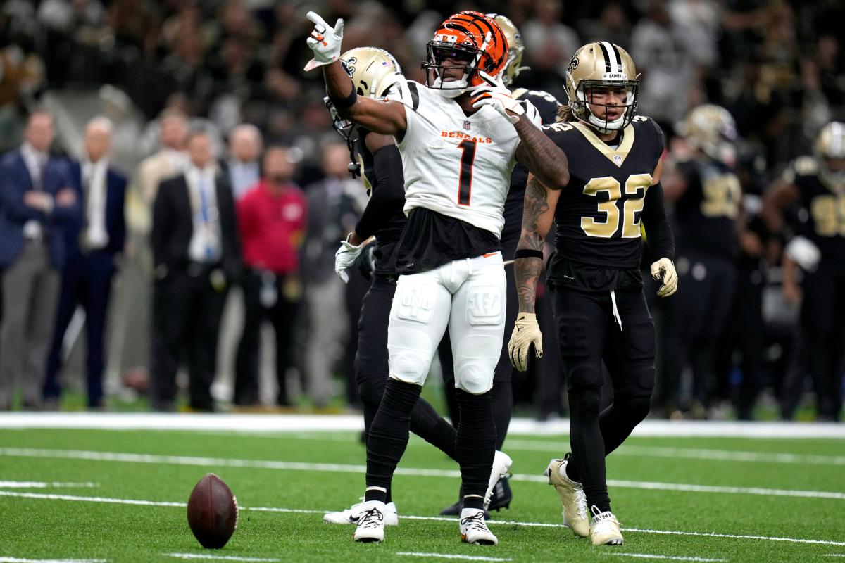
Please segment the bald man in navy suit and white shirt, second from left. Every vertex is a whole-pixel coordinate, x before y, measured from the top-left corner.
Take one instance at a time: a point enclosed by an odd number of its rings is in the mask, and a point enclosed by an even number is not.
[[[71,180],[82,193],[83,219],[75,229],[68,230],[68,262],[62,273],[56,327],[47,356],[44,401],[58,405],[64,333],[81,305],[88,344],[88,407],[97,409],[103,406],[103,335],[112,275],[117,269],[115,258],[123,252],[126,241],[126,176],[110,165],[112,122],[106,117],[95,117],[88,123],[83,143],[82,159],[70,163]]]

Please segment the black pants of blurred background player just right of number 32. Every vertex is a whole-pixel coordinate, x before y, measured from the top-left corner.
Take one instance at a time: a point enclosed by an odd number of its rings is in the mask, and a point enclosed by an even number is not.
[[[733,304],[736,264],[731,257],[685,251],[676,258],[675,267],[679,290],[667,303],[658,403],[679,405],[681,373],[690,362],[693,398],[707,406],[716,380],[714,349]]]

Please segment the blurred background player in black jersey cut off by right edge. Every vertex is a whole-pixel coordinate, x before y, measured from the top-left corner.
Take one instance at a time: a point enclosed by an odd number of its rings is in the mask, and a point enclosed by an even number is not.
[[[845,371],[845,123],[822,128],[814,149],[814,155],[796,159],[766,194],[763,217],[771,232],[788,240],[783,296],[790,304],[802,301],[799,353],[814,379],[819,419],[839,420]],[[789,229],[784,212],[794,203],[800,211]],[[786,419],[798,403],[800,373],[788,376],[783,390]]]

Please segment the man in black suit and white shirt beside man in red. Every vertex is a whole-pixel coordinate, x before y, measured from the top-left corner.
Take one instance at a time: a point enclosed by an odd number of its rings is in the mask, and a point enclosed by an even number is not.
[[[150,401],[163,411],[175,406],[183,351],[191,409],[214,409],[217,336],[241,263],[232,187],[217,170],[208,133],[188,134],[188,158],[183,174],[161,182],[153,206]]]

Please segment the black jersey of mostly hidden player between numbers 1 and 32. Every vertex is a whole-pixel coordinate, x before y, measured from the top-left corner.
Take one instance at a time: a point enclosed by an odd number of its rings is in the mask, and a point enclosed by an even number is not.
[[[540,120],[543,125],[553,123],[558,116],[560,102],[548,92],[542,90],[515,89],[513,92],[515,100],[528,100],[540,113]],[[504,259],[510,260],[514,257],[516,243],[520,240],[522,232],[522,203],[525,201],[526,183],[528,181],[528,169],[516,163],[514,171],[510,174],[510,190],[508,198],[504,201],[504,228],[502,229],[502,251]]]

